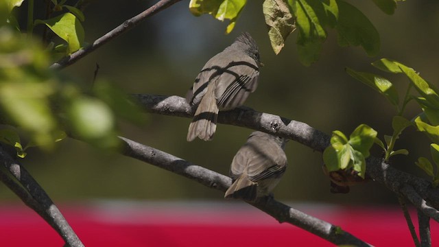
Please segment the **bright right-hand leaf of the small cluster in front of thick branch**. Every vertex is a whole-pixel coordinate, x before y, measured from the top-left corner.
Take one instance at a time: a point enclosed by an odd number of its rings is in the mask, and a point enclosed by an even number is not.
[[[366,124],[361,124],[352,132],[349,138],[349,144],[354,150],[361,152],[364,158],[367,158],[370,148],[377,137],[377,131],[370,128]]]

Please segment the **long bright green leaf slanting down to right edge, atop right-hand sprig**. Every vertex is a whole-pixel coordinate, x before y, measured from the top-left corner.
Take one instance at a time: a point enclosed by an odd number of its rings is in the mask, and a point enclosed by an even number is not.
[[[405,75],[407,75],[420,95],[423,95],[423,97],[425,97],[429,103],[433,104],[435,108],[439,108],[439,95],[436,87],[421,78],[414,69],[403,64],[399,64],[399,67]]]

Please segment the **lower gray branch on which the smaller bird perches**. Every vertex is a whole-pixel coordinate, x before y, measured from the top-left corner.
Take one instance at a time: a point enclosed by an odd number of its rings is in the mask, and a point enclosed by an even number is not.
[[[124,150],[122,152],[123,155],[136,158],[140,161],[150,163],[163,169],[167,169],[170,172],[196,180],[202,185],[211,187],[213,189],[218,189],[220,191],[226,191],[226,189],[232,184],[232,179],[228,176],[224,176],[204,167],[194,165],[193,163],[185,161],[182,158],[167,154],[166,152],[151,148],[141,143],[137,143],[130,139],[126,139],[124,137],[120,137],[120,139],[125,143]],[[292,207],[278,202],[273,198],[260,198],[251,204],[258,209],[261,209],[261,211],[272,215],[272,217],[279,222],[288,222],[298,226],[305,231],[318,235],[319,237],[322,237],[333,244],[370,246],[350,233],[342,231],[337,226],[324,222],[323,220],[319,220],[311,215],[302,213],[301,211],[293,209]]]

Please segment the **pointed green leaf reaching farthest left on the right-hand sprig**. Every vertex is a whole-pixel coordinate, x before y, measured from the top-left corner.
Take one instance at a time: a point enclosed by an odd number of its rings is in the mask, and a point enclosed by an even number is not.
[[[389,80],[372,73],[357,72],[353,69],[346,68],[346,72],[353,78],[363,82],[367,86],[381,93],[386,99],[390,101],[394,106],[398,106],[399,97],[398,92],[394,88],[392,82]]]

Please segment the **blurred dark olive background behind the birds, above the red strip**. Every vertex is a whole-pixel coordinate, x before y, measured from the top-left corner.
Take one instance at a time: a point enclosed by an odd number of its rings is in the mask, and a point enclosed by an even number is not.
[[[26,3],[23,3],[23,19]],[[335,32],[329,31],[320,60],[304,67],[296,54],[296,33],[289,36],[281,54],[274,55],[262,14],[262,1],[248,1],[235,30],[224,34],[227,23],[211,16],[193,16],[189,1],[181,1],[160,12],[130,32],[97,49],[64,73],[86,83],[108,79],[127,93],[185,95],[204,63],[248,31],[257,40],[265,67],[259,87],[246,106],[262,112],[304,121],[327,133],[350,134],[359,124],[368,124],[391,134],[394,109],[384,97],[344,72],[345,67],[380,73],[370,66],[379,58],[392,58],[414,67],[426,80],[438,82],[439,1],[401,2],[393,16],[381,12],[372,1],[350,1],[364,12],[381,36],[379,56],[370,58],[358,47],[340,48]],[[37,2],[36,2],[37,3]],[[86,8],[86,40],[104,35],[156,1],[93,1]],[[38,17],[38,16],[37,16]],[[43,18],[40,16],[39,18]],[[38,27],[41,28],[41,27]],[[40,31],[36,29],[36,32]],[[407,85],[401,75],[381,73],[396,84],[400,93]],[[405,117],[419,112],[410,105]],[[252,130],[219,124],[215,139],[188,143],[190,119],[147,114],[143,126],[121,123],[121,135],[169,152],[197,165],[228,174],[235,152]],[[418,156],[429,156],[429,141],[413,128],[406,130],[396,149],[407,148],[409,156],[395,156],[398,169],[425,176],[415,165]],[[351,187],[348,194],[332,194],[329,179],[322,173],[322,155],[290,141],[285,150],[289,167],[274,190],[278,200],[331,202],[340,204],[387,204],[396,202],[393,193],[377,183]],[[372,154],[381,156],[379,148]],[[67,139],[54,152],[29,150],[23,163],[56,202],[73,200],[223,200],[223,194],[147,163],[97,150]],[[18,201],[4,185],[0,200]]]

